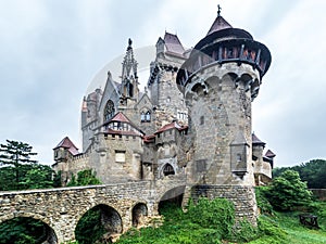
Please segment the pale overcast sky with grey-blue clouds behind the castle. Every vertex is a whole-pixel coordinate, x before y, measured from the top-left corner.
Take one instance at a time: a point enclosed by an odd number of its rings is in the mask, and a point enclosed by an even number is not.
[[[128,38],[141,49],[166,30],[193,47],[217,3],[225,20],[271,50],[253,130],[277,154],[275,165],[325,158],[325,0],[0,0],[0,142],[28,142],[43,164],[65,136],[80,147],[83,97]]]

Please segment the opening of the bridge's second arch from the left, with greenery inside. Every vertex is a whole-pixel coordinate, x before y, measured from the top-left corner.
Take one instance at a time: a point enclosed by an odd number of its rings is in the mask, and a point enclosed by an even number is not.
[[[75,229],[75,237],[77,241],[85,242],[96,236],[106,243],[122,232],[123,221],[118,211],[111,206],[100,204],[82,216]]]

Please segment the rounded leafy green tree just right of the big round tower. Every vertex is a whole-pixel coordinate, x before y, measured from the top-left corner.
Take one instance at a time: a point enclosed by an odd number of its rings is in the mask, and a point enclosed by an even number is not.
[[[291,210],[299,206],[308,206],[312,202],[312,193],[294,170],[286,170],[273,179],[266,196],[278,210]]]

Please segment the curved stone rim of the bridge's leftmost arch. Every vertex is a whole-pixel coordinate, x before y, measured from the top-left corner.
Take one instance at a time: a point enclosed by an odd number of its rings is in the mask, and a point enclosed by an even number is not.
[[[7,221],[11,221],[17,218],[24,218],[24,219],[33,219],[38,220],[43,223],[43,227],[46,228],[46,242],[49,244],[58,244],[58,234],[59,230],[57,230],[55,226],[52,226],[48,218],[45,216],[35,214],[35,213],[14,213],[10,215],[2,216],[0,219],[0,224],[5,223]]]

